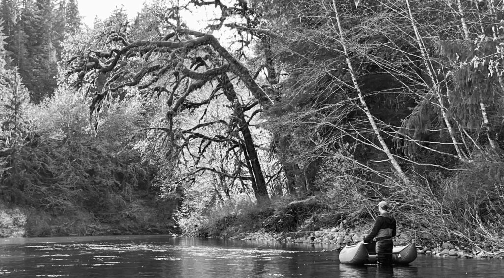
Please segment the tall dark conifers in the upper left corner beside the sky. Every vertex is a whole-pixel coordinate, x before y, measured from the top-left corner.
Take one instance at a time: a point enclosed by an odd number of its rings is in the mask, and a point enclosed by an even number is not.
[[[18,67],[30,99],[40,102],[56,88],[61,42],[79,30],[81,21],[74,0],[2,0],[9,60]]]

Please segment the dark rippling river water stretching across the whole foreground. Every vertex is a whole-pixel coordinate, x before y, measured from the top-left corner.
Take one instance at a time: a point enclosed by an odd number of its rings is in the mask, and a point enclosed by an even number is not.
[[[0,239],[0,277],[504,277],[498,259],[339,264],[331,245],[171,236]]]

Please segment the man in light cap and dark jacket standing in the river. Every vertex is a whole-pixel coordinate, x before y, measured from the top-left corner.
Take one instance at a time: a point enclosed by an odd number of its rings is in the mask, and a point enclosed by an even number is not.
[[[394,244],[392,237],[396,236],[396,220],[389,213],[389,204],[381,201],[378,204],[380,215],[374,220],[373,228],[369,235],[364,238],[364,242],[371,242],[376,239],[376,261],[378,266],[392,264],[392,248]]]

